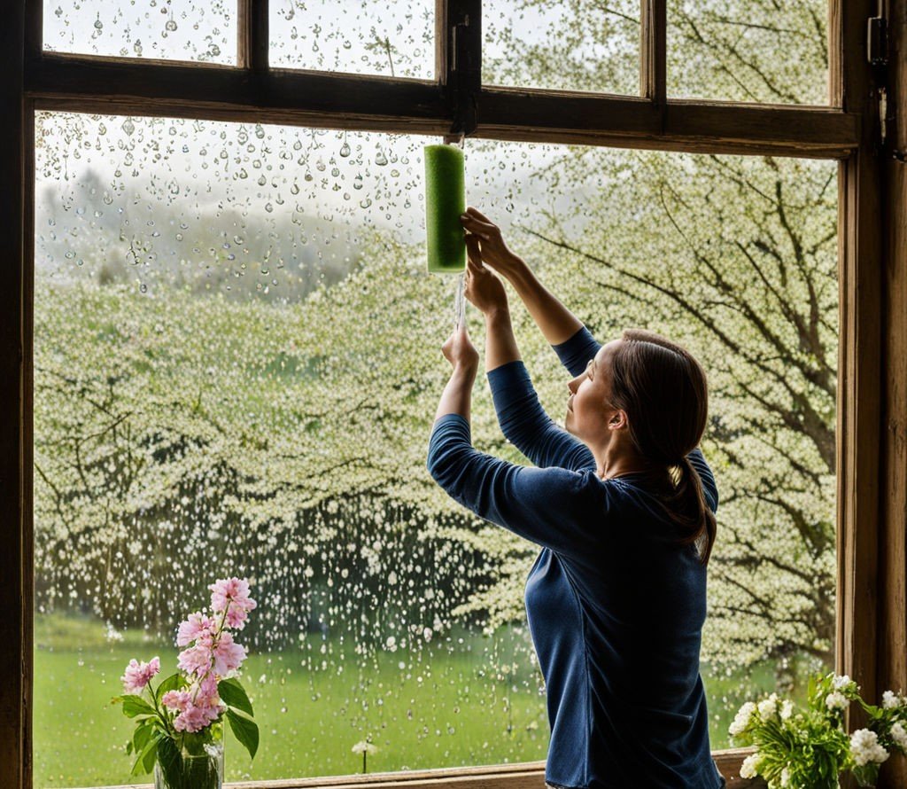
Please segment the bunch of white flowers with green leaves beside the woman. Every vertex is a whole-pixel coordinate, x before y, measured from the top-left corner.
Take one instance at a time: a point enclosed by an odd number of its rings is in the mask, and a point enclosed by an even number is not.
[[[907,698],[886,690],[882,706],[866,704],[849,676],[810,678],[806,709],[772,694],[740,707],[729,732],[736,745],[755,745],[740,777],[761,775],[769,789],[835,789],[850,771],[861,786],[875,786],[892,751],[907,753]],[[868,728],[848,736],[844,710],[858,702]]]

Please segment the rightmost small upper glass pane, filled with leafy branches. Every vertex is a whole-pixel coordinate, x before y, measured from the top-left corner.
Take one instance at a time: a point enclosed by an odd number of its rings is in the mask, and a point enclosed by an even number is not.
[[[668,98],[828,104],[828,2],[668,0]]]

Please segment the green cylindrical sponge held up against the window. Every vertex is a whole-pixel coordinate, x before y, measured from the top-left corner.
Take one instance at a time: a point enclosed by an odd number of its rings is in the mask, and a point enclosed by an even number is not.
[[[425,146],[425,236],[428,271],[459,274],[466,268],[460,214],[466,211],[463,151],[453,145]]]

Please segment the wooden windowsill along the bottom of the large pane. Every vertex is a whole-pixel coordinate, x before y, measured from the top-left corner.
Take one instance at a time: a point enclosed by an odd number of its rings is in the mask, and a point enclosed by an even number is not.
[[[740,777],[740,763],[751,749],[735,748],[714,751],[718,769],[728,787],[734,789],[763,789],[761,779]],[[104,789],[149,789],[150,784],[124,784]],[[336,775],[330,778],[281,778],[276,781],[243,781],[224,784],[227,789],[545,789],[545,763],[494,764],[484,767],[451,767],[444,770],[413,770],[406,773],[373,773],[366,775]]]

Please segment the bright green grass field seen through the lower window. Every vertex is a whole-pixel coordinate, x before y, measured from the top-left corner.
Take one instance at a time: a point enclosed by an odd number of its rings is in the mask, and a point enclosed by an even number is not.
[[[129,775],[132,757],[125,744],[134,723],[110,699],[122,693],[119,677],[132,657],[161,657],[156,685],[176,670],[178,649],[145,642],[138,632],[123,635],[121,642],[110,642],[96,620],[36,617],[34,785],[39,789],[151,783],[151,776]],[[439,644],[431,656],[426,650],[412,656],[381,652],[363,666],[349,643],[323,642],[317,635],[309,639],[309,649],[250,655],[240,679],[255,706],[260,745],[253,762],[228,734],[226,780],[361,772],[362,757],[351,748],[366,735],[379,748],[369,757],[369,772],[543,759],[548,723],[538,669],[513,652],[528,636],[502,628],[493,638],[452,637],[453,651]],[[241,633],[238,640],[242,643]],[[495,664],[514,662],[519,667],[511,676],[494,675]],[[737,706],[756,688],[771,687],[771,666],[720,679],[704,667],[703,677],[712,746],[727,747],[727,725]]]

